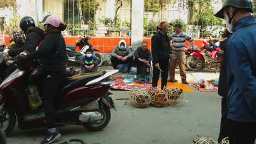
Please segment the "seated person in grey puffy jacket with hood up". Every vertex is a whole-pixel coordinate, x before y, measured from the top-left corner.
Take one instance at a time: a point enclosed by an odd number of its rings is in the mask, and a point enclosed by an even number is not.
[[[110,60],[114,69],[117,69],[118,64],[128,64],[127,72],[130,71],[133,64],[133,53],[130,47],[127,46],[125,40],[120,40],[110,55]]]

